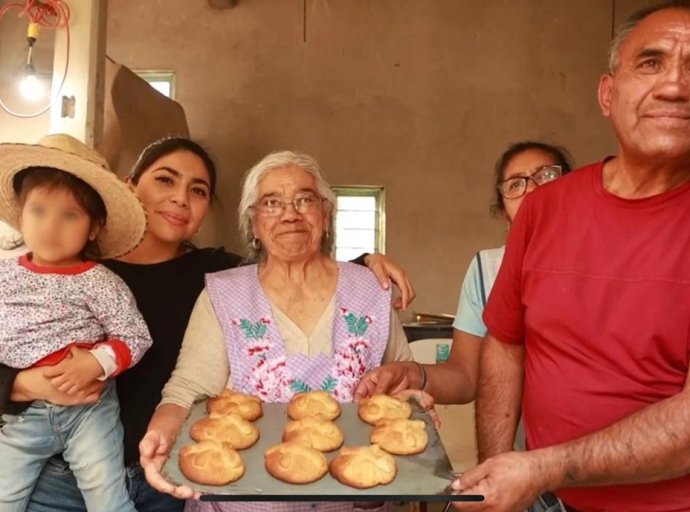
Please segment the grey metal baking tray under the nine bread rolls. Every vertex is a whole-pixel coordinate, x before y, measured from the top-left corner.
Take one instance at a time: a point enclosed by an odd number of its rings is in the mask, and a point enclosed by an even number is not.
[[[449,495],[448,486],[453,479],[452,469],[438,432],[427,413],[412,403],[412,418],[426,423],[429,435],[427,449],[417,455],[394,455],[398,474],[388,485],[370,489],[355,489],[341,484],[330,474],[311,484],[288,484],[273,478],[264,467],[264,451],[282,442],[283,429],[290,421],[287,404],[262,404],[263,417],[254,422],[260,432],[259,440],[247,450],[239,452],[245,464],[245,473],[238,481],[224,486],[201,485],[187,480],[178,466],[180,448],[192,443],[189,427],[206,416],[206,402],[197,402],[190,410],[180,435],[163,465],[163,476],[177,485],[188,485],[202,493],[202,500],[209,501],[267,501],[270,499],[295,501],[312,499],[323,501],[372,501],[414,500],[425,501],[478,501],[477,496]],[[335,422],[345,435],[343,446],[369,445],[373,427],[357,415],[357,404],[340,404],[342,413]],[[326,453],[330,461],[340,450]]]

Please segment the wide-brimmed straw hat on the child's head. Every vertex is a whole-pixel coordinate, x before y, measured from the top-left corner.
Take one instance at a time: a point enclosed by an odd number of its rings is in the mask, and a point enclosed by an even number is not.
[[[0,144],[0,219],[18,228],[14,178],[29,167],[68,172],[98,192],[107,212],[105,227],[96,238],[103,259],[122,256],[139,245],[146,231],[139,199],[96,150],[65,134],[47,135],[38,144]]]

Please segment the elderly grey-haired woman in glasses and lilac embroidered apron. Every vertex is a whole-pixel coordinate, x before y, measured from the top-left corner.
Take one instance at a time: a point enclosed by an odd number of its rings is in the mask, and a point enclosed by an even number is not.
[[[149,482],[189,498],[160,475],[190,406],[228,385],[266,402],[326,389],[352,401],[360,377],[382,362],[411,360],[390,292],[370,271],[334,261],[335,197],[310,156],[284,151],[249,170],[240,228],[257,263],[207,275],[177,367],[140,444]],[[359,326],[352,331],[352,320]],[[261,329],[252,328],[261,326]],[[352,364],[354,360],[358,364]],[[188,502],[188,510],[356,510],[371,504]]]

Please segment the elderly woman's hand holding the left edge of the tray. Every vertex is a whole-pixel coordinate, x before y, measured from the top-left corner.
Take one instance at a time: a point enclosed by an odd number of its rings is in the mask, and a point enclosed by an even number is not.
[[[181,500],[198,500],[201,496],[199,492],[185,485],[173,485],[161,474],[163,463],[168,458],[174,441],[162,432],[149,429],[139,443],[139,463],[144,469],[146,480],[157,491],[171,494]]]

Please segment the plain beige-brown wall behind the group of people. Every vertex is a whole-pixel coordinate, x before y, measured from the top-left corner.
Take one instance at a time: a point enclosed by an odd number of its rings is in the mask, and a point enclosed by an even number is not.
[[[242,173],[303,150],[333,184],[386,188],[386,249],[415,282],[414,309],[454,312],[473,253],[505,235],[488,208],[509,142],[558,142],[581,164],[615,152],[597,82],[612,18],[645,3],[110,0],[107,53],[177,73],[192,136],[221,169],[225,222],[208,242],[239,251]]]

